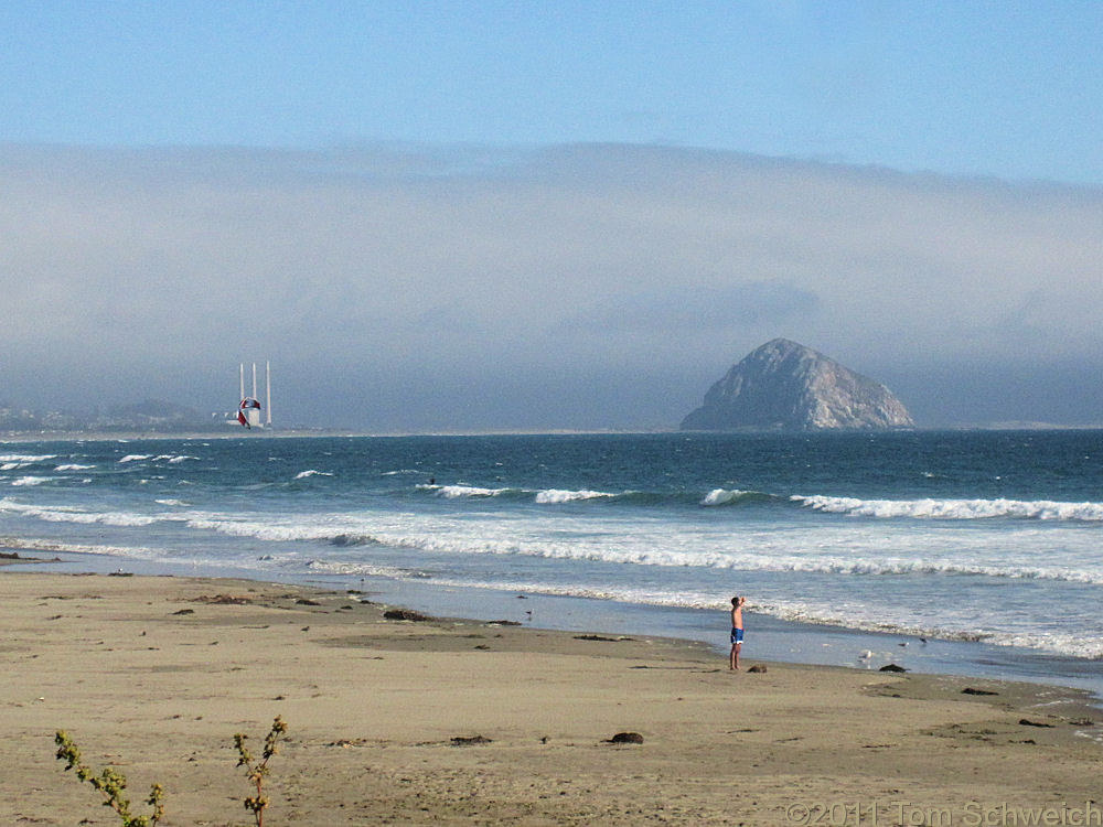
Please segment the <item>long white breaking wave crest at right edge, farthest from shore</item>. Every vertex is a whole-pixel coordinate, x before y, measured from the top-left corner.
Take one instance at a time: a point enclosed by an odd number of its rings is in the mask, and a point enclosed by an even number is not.
[[[1060,503],[1049,500],[858,500],[855,497],[793,495],[794,502],[820,512],[860,517],[915,519],[1103,520],[1103,503]]]

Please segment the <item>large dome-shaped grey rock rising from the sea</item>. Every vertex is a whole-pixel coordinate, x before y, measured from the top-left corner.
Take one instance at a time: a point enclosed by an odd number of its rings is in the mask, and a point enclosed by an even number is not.
[[[913,427],[908,409],[887,387],[788,339],[748,354],[682,420],[684,431]]]

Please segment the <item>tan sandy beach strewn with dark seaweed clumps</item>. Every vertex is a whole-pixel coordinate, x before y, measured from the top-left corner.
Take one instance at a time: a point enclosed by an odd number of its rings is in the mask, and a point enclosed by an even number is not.
[[[371,594],[239,580],[8,569],[0,594],[2,824],[118,823],[57,729],[135,802],[162,784],[162,824],[251,824],[233,735],[259,752],[277,715],[267,825],[1103,819],[1103,728],[1073,690],[732,674],[699,644],[386,620]]]

